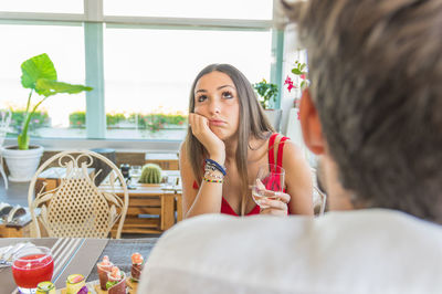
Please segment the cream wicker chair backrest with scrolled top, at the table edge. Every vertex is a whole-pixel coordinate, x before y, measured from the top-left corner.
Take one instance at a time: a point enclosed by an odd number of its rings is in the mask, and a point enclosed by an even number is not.
[[[115,189],[104,192],[95,186],[94,179],[101,174],[101,170],[91,174],[95,160],[112,168],[108,182],[123,193],[112,192]],[[49,185],[45,170],[53,169],[54,165],[61,167],[53,177],[56,185]],[[128,191],[122,172],[106,157],[88,150],[63,151],[36,170],[29,187],[28,202],[38,238],[41,237],[39,222],[49,237],[108,238],[118,220],[115,237],[120,238]]]

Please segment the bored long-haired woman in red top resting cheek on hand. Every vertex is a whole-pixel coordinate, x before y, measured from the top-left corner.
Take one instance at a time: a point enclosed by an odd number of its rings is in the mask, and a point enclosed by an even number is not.
[[[229,64],[203,69],[192,84],[189,132],[180,148],[185,217],[313,214],[309,168],[299,149],[285,139],[274,134],[240,71]],[[272,161],[285,169],[286,190],[260,209],[250,185],[259,167]]]

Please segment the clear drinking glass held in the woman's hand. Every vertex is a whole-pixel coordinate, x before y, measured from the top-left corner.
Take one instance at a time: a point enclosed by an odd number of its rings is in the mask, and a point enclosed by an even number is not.
[[[282,192],[284,188],[285,170],[276,165],[265,165],[257,169],[256,179],[252,187],[252,198],[260,208],[269,208],[263,200],[278,200],[275,192]]]

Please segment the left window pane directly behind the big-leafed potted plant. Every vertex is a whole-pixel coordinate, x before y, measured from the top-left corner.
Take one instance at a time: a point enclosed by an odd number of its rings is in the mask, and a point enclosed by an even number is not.
[[[22,113],[25,109],[29,88],[21,85],[21,64],[38,54],[48,53],[57,71],[57,80],[84,84],[84,36],[82,27],[57,25],[10,25],[0,24],[3,44],[0,66],[0,106],[11,107],[15,118],[10,134],[21,129]],[[33,93],[34,105],[42,96]],[[31,123],[31,136],[36,137],[85,137],[84,125],[70,126],[70,115],[85,112],[85,94],[57,94],[43,102],[40,114]],[[21,115],[20,115],[21,114]],[[44,115],[46,114],[48,117]]]

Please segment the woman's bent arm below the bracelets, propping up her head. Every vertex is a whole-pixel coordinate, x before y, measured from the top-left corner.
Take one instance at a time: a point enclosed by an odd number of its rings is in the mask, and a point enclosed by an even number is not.
[[[185,218],[203,213],[219,213],[222,201],[222,183],[201,181],[197,182],[199,190],[194,189],[193,181],[196,181],[196,176],[188,160],[185,144],[180,147],[179,159],[182,180],[182,211]]]

